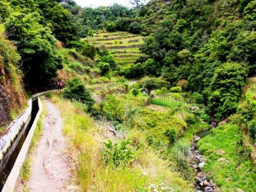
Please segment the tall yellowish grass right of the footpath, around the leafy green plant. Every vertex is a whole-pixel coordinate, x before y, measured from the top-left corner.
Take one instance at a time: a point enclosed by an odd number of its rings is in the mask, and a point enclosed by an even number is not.
[[[158,157],[145,143],[130,164],[118,167],[105,164],[101,151],[108,138],[101,134],[101,127],[71,102],[56,96],[52,101],[58,104],[65,120],[63,131],[71,145],[69,153],[74,158],[75,180],[81,191],[147,191],[149,185],[161,183],[175,191],[193,191],[191,184],[174,171],[175,167]],[[135,129],[128,130],[126,137],[131,146],[146,140],[145,134]]]

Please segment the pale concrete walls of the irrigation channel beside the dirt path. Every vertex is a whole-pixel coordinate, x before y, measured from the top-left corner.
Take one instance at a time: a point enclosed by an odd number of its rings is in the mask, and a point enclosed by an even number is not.
[[[28,101],[28,108],[23,112],[22,115],[16,118],[15,121],[8,126],[8,133],[0,138],[0,161],[3,161],[6,156],[11,155],[13,151],[15,151],[12,149],[12,147],[15,144],[15,140],[20,140],[18,137],[22,137],[20,136],[20,134],[22,134],[21,132],[23,132],[24,129],[28,129],[28,134],[25,134],[25,141],[18,152],[18,157],[15,159],[15,164],[13,165],[11,172],[8,174],[7,180],[2,187],[2,192],[12,192],[18,190],[18,186],[21,182],[20,172],[28,154],[28,149],[32,142],[35,128],[37,127],[38,120],[42,113],[42,102],[38,96],[48,92],[52,91],[34,94],[32,99]]]

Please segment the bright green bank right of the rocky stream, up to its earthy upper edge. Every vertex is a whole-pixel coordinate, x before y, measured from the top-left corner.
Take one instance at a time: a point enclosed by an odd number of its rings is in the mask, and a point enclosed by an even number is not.
[[[203,170],[221,191],[256,190],[255,88],[255,78],[248,78],[236,114],[212,129],[198,144],[209,160]]]

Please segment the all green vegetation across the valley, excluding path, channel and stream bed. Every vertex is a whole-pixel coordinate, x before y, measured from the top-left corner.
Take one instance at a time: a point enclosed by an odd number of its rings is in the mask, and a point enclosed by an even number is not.
[[[203,171],[218,190],[256,190],[256,1],[131,3],[3,0],[4,122],[25,102],[20,76],[32,92],[61,78],[65,90],[49,98],[81,191],[193,191],[190,141],[224,120],[198,144]]]

